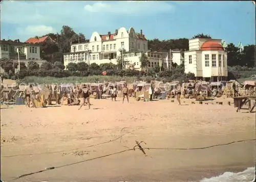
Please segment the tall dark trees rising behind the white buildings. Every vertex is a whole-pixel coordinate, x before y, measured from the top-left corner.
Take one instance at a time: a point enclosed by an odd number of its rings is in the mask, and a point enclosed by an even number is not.
[[[41,58],[48,62],[54,63],[56,61],[63,62],[63,53],[70,53],[71,43],[88,42],[86,36],[79,33],[77,34],[72,28],[67,25],[63,25],[60,33],[49,33],[44,36],[50,36],[54,42],[42,42],[41,46]],[[212,38],[208,34],[197,34],[192,38]],[[188,38],[180,39],[168,39],[148,40],[148,49],[151,51],[169,51],[169,49],[188,50]],[[255,67],[255,45],[244,46],[243,51],[239,51],[239,48],[233,44],[227,44],[225,47],[227,51],[227,64],[228,66],[247,66]]]

